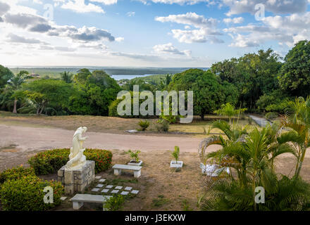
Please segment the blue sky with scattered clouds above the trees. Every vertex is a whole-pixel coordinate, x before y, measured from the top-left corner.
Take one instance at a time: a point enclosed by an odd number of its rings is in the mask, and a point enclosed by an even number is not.
[[[310,40],[310,0],[0,0],[5,66],[201,67]]]

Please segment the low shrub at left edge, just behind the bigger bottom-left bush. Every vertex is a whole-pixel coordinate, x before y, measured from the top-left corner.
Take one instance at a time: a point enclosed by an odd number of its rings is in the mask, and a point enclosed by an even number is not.
[[[7,180],[16,180],[28,175],[35,175],[35,169],[31,167],[25,168],[23,166],[6,169],[4,172],[0,173],[0,184],[4,184]]]

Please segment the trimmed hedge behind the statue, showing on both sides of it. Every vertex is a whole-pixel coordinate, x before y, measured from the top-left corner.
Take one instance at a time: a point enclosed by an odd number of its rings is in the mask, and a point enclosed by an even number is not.
[[[46,150],[30,158],[28,163],[35,169],[35,174],[37,175],[52,174],[57,172],[63,165],[66,165],[69,160],[69,154],[69,148]],[[96,174],[109,169],[113,156],[109,150],[92,148],[87,148],[84,155],[87,160],[95,161],[94,172]]]

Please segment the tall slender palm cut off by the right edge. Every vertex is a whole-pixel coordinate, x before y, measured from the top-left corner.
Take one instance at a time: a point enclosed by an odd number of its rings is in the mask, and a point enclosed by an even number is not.
[[[288,103],[287,112],[283,118],[284,127],[290,128],[286,139],[292,142],[297,155],[295,176],[299,176],[306,155],[306,149],[310,147],[310,97],[296,98]]]

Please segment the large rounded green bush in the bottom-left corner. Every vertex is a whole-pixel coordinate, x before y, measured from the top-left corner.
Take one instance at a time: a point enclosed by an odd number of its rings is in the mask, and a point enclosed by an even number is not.
[[[51,186],[54,203],[44,203],[44,187]],[[0,198],[4,211],[43,211],[61,204],[63,186],[57,181],[42,181],[35,175],[8,179],[1,185]]]

